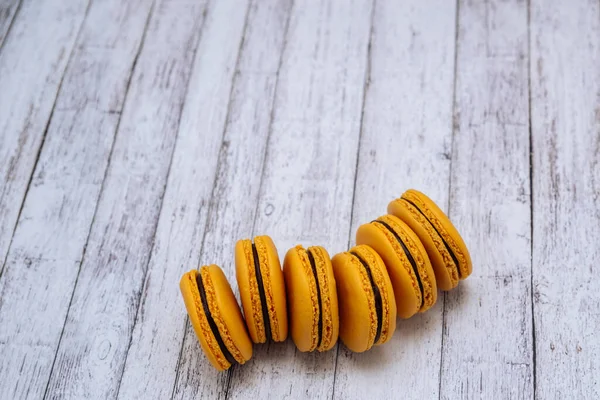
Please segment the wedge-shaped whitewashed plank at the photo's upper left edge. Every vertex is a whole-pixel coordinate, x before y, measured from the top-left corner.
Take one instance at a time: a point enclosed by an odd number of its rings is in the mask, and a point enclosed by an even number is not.
[[[0,53],[0,278],[87,0],[24,0]]]

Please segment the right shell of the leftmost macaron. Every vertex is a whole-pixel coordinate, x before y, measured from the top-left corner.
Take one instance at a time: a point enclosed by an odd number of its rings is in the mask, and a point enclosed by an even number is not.
[[[229,352],[238,363],[244,364],[252,358],[252,342],[248,336],[246,324],[233,290],[221,268],[211,265],[206,268],[206,272],[209,274],[212,290],[214,291],[213,298],[215,301],[210,305],[213,319]],[[206,279],[204,282],[207,297],[211,297],[209,296],[211,290],[209,282]]]

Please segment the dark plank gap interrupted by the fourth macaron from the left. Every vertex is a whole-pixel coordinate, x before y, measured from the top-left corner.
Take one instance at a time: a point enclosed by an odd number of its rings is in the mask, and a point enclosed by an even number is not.
[[[360,161],[360,148],[362,143],[362,136],[364,131],[364,117],[365,117],[365,104],[367,100],[367,92],[369,90],[369,86],[371,83],[371,62],[372,62],[372,44],[373,44],[373,21],[375,18],[375,7],[377,7],[377,0],[373,0],[371,4],[371,17],[370,17],[370,26],[369,26],[369,43],[367,44],[367,62],[365,67],[365,79],[363,82],[363,98],[362,98],[362,111],[360,114],[360,122],[359,122],[359,131],[358,131],[358,143],[356,145],[356,163],[354,167],[354,186],[352,188],[352,205],[350,207],[350,226],[348,229],[348,248],[351,247],[352,243],[352,221],[354,218],[354,201],[356,200],[356,181],[358,179],[358,163]],[[331,400],[335,399],[335,381],[337,378],[337,365],[338,365],[338,357],[340,356],[340,340],[335,345],[335,362],[333,364],[333,383],[331,390]]]

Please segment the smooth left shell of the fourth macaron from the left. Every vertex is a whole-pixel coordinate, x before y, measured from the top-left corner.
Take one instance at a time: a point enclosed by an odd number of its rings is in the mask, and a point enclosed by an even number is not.
[[[358,266],[352,260],[348,253],[340,253],[331,261],[338,292],[340,339],[347,348],[361,353],[373,346],[375,334],[369,294],[365,293]]]

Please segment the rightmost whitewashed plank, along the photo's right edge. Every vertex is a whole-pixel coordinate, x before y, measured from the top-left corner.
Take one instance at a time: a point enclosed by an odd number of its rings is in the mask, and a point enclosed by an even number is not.
[[[600,3],[531,3],[536,397],[600,398]]]

